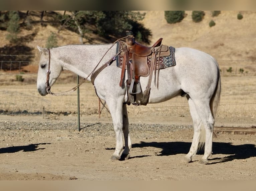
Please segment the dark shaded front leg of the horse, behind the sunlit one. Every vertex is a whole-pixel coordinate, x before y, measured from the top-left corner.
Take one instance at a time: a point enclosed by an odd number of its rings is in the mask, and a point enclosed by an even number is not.
[[[129,134],[129,120],[126,104],[123,105],[123,133],[124,133],[124,151],[121,155],[121,160],[126,160],[130,157],[130,150],[132,148],[132,143]]]

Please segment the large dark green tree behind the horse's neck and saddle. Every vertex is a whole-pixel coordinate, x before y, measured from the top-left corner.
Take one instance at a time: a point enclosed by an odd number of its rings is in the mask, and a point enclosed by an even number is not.
[[[145,14],[136,11],[73,11],[70,15],[61,16],[61,28],[78,31],[80,26],[83,37],[87,33],[95,33],[107,40],[113,40],[126,36],[126,31],[132,31],[135,38],[142,39],[149,43],[149,37],[152,36],[150,30],[146,29],[143,24],[139,23]],[[77,24],[75,23],[77,21]],[[61,29],[60,28],[60,29]],[[79,32],[81,34],[81,32]],[[137,38],[136,38],[137,39]]]

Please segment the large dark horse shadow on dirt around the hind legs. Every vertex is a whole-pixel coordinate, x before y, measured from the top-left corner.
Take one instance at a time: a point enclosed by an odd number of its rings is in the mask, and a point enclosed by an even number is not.
[[[162,150],[156,154],[157,156],[169,156],[176,154],[186,154],[189,151],[191,142],[143,142],[132,144],[132,148],[155,147]],[[199,151],[198,154],[204,154]],[[256,156],[255,144],[232,145],[232,143],[213,142],[213,155],[224,154],[223,158],[209,158],[210,164],[232,161],[234,159],[247,159]],[[132,158],[147,157],[150,155],[133,156]]]

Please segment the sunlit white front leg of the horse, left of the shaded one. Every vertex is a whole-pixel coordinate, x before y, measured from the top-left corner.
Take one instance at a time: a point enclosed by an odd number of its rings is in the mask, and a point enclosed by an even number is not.
[[[116,133],[116,149],[111,156],[111,160],[119,160],[123,150],[123,99],[106,100],[106,102],[109,106],[109,111],[112,116],[114,130]]]

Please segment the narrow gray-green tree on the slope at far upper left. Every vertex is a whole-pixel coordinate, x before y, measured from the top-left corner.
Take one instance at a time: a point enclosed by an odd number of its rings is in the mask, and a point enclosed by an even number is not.
[[[19,33],[19,14],[17,11],[9,12],[9,21],[7,26],[7,31],[9,32],[6,35],[6,39],[10,41],[10,43],[16,43],[17,34]]]

